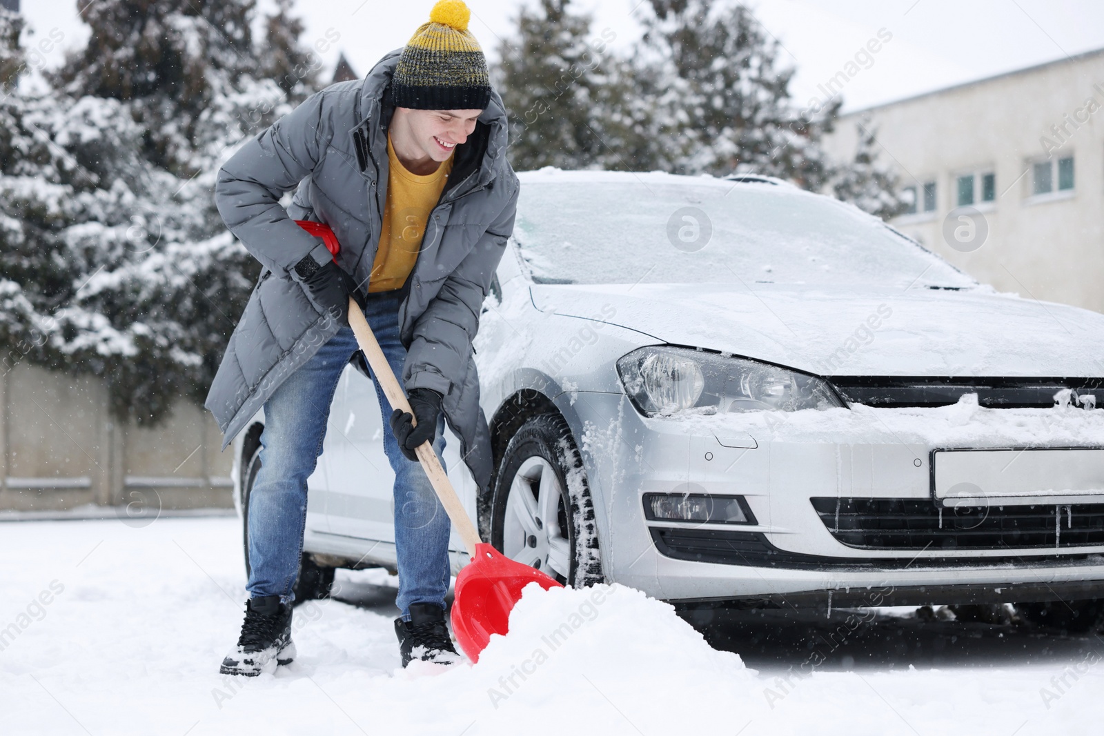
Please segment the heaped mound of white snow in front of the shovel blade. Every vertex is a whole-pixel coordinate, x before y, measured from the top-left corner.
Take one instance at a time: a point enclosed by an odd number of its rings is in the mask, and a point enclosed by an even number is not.
[[[466,711],[486,733],[524,723],[527,734],[562,734],[564,722],[548,716],[570,712],[585,713],[591,733],[688,733],[732,724],[713,708],[688,705],[763,704],[755,672],[739,655],[710,648],[669,604],[622,585],[530,584],[510,614],[509,634],[492,636],[477,664],[412,663],[396,674],[393,683],[407,697],[415,680],[427,702]]]

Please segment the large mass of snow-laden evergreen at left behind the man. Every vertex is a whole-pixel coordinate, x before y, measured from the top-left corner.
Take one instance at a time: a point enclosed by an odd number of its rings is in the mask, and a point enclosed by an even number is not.
[[[0,102],[0,370],[103,376],[115,413],[144,423],[202,401],[257,271],[214,209],[219,164],[308,84],[289,97],[263,76],[252,12],[89,6],[54,92]]]

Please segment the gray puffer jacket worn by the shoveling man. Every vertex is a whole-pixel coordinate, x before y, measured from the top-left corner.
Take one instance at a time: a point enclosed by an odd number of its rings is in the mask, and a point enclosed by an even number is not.
[[[219,212],[264,266],[208,394],[223,447],[341,328],[314,306],[295,274],[317,241],[293,220],[328,224],[341,243],[338,265],[368,282],[388,196],[386,129],[394,107],[384,93],[399,55],[384,56],[363,82],[315,94],[219,171]],[[490,438],[471,340],[513,232],[519,182],[506,159],[507,129],[493,93],[473,135],[456,147],[396,314],[408,351],[402,382],[407,391],[424,386],[444,395],[445,416],[481,489],[491,474]],[[296,188],[285,210],[279,200]]]

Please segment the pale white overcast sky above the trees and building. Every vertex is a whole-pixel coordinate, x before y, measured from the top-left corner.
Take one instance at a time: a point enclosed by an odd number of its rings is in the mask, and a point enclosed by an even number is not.
[[[109,0],[93,0],[106,2]],[[532,1],[532,0],[531,0]],[[647,0],[645,0],[647,1]],[[84,7],[88,0],[79,0]],[[259,0],[267,7],[269,0]],[[593,32],[611,29],[613,46],[638,35],[630,11],[640,0],[576,0],[595,15]],[[64,34],[62,46],[78,46],[87,26],[75,0],[23,0],[38,33]],[[432,0],[296,0],[307,23],[305,41],[340,35],[322,54],[330,68],[343,51],[363,75],[388,51],[402,46],[428,19]],[[511,34],[519,0],[470,0],[471,31],[489,55]],[[962,82],[1104,47],[1104,2],[1100,0],[751,0],[763,28],[784,47],[781,61],[797,67],[792,86],[804,104],[824,95],[817,85],[843,70],[878,35],[872,62],[843,89],[845,110],[909,97]],[[47,65],[61,62],[52,53]],[[853,68],[853,67],[852,67]],[[1104,78],[1104,70],[1101,74]]]

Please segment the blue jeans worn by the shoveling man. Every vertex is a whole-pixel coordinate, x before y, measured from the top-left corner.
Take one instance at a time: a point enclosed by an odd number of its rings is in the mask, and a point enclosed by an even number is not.
[[[369,295],[364,317],[396,376],[402,375],[406,349],[399,339],[399,292]],[[261,435],[261,470],[250,491],[251,598],[280,596],[291,600],[291,587],[302,554],[307,522],[307,478],[322,454],[330,403],[341,372],[358,350],[346,326],[291,374],[265,403]],[[374,376],[373,376],[374,381]],[[391,431],[391,404],[375,381],[383,414],[383,449],[395,471],[395,554],[399,557],[399,598],[403,618],[411,604],[445,607],[448,591],[448,515],[437,500],[421,463],[399,450]],[[437,419],[433,446],[445,450],[445,419]],[[365,478],[364,482],[372,482]]]

